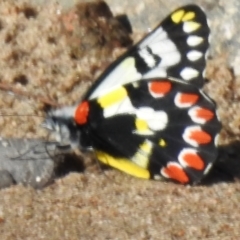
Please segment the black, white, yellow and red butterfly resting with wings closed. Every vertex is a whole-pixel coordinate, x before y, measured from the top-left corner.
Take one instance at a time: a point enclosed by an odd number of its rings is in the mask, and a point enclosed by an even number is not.
[[[196,5],[178,8],[113,62],[74,106],[43,126],[61,146],[145,179],[198,183],[217,158],[221,128],[202,90],[210,29]]]

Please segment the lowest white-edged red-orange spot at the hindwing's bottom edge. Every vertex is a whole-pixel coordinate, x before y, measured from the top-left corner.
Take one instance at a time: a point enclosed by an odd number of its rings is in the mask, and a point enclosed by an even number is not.
[[[168,178],[176,180],[180,183],[184,184],[189,182],[187,174],[176,164],[169,163],[167,167],[161,170],[161,172],[163,173],[163,176],[167,176]]]

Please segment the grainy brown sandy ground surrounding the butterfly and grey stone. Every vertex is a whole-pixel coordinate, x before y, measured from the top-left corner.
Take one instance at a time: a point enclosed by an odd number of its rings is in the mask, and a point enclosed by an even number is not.
[[[82,22],[78,31],[74,11],[44,6],[0,2],[0,87],[15,93],[1,92],[4,137],[46,138],[39,128],[44,110],[80,99],[131,44],[128,30],[106,6],[75,8]],[[219,49],[213,46],[205,90],[223,123],[220,157],[201,185],[135,179],[101,171],[88,159],[84,172],[69,173],[42,190],[21,185],[0,190],[0,239],[240,239],[240,79]]]

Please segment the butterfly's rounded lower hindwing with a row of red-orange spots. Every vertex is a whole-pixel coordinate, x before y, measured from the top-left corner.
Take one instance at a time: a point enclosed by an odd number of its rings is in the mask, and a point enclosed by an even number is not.
[[[198,182],[217,157],[215,104],[174,79],[129,83],[89,101],[99,160],[134,176]]]

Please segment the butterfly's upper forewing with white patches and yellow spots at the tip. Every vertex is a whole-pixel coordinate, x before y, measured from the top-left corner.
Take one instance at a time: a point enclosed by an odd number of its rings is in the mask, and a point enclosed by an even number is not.
[[[153,77],[178,78],[202,87],[209,33],[206,15],[200,7],[187,5],[175,10],[113,62],[85,99],[96,98],[116,86]]]

